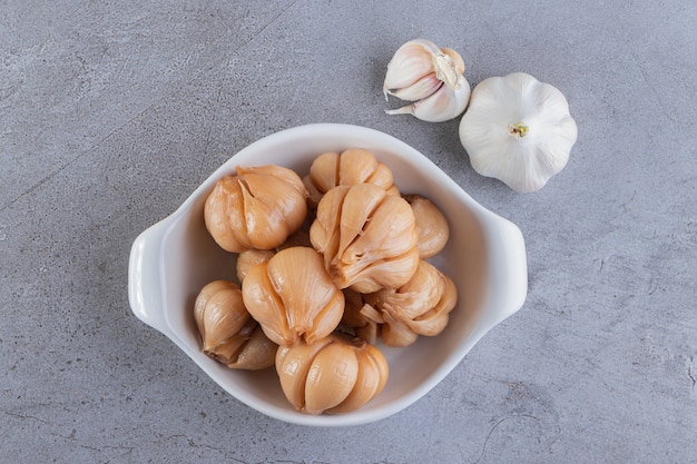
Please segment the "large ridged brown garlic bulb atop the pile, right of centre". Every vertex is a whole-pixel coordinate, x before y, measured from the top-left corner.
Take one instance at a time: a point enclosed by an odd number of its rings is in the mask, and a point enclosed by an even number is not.
[[[312,245],[338,288],[395,288],[419,265],[414,214],[406,200],[372,184],[327,191],[310,227]]]

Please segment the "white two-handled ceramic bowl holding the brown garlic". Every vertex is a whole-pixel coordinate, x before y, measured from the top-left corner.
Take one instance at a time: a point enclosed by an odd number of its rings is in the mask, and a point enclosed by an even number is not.
[[[208,235],[203,207],[215,181],[236,166],[277,164],[304,176],[321,152],[351,147],[369,149],[390,166],[400,191],[421,194],[443,210],[451,237],[430,260],[455,282],[459,302],[440,335],[420,337],[406,348],[383,347],[390,378],[376,398],[353,413],[313,416],[287,403],[273,368],[232,371],[202,353],[193,316],[196,295],[213,279],[235,278],[235,256]],[[232,157],[171,216],[135,240],[128,280],[135,315],[169,337],[230,395],[288,423],[343,426],[385,418],[431,391],[487,332],[522,306],[528,273],[519,228],[480,206],[422,154],[373,129],[320,124],[265,137]]]

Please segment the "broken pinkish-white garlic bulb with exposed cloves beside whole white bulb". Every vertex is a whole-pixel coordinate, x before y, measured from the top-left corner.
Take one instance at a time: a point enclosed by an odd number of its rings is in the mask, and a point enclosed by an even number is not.
[[[413,103],[385,112],[409,113],[428,122],[448,121],[464,111],[470,91],[464,61],[455,50],[425,39],[410,40],[390,60],[383,93]]]

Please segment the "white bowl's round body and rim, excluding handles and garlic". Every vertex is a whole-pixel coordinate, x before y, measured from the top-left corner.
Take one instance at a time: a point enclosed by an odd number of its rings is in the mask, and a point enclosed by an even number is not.
[[[295,412],[286,402],[273,369],[232,371],[200,352],[193,316],[196,295],[213,279],[236,280],[236,256],[210,238],[203,206],[215,181],[237,166],[277,164],[304,176],[320,154],[352,147],[369,149],[390,166],[400,191],[423,195],[443,210],[450,223],[450,240],[430,261],[454,280],[459,300],[439,336],[420,337],[405,348],[381,346],[390,363],[390,379],[375,399],[354,413],[310,416]],[[383,418],[428,393],[473,345],[469,337],[487,299],[485,214],[423,155],[382,132],[345,125],[313,125],[275,134],[230,158],[168,218],[160,263],[167,324],[164,332],[228,393],[273,417],[306,425],[355,425]]]

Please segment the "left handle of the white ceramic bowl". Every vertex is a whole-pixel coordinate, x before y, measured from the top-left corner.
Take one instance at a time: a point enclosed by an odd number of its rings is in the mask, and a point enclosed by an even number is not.
[[[128,300],[134,314],[145,324],[165,332],[165,303],[161,292],[161,243],[167,230],[160,221],[134,241],[128,261]]]

